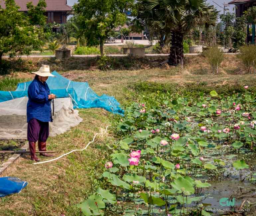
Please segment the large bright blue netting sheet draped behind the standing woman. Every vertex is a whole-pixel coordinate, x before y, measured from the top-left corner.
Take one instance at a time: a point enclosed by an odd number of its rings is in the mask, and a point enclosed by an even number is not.
[[[74,82],[66,79],[56,71],[56,77],[49,77],[46,81],[51,93],[57,98],[71,97],[74,109],[76,108],[103,108],[109,112],[123,115],[118,101],[108,95],[98,96],[88,82]],[[0,91],[0,102],[27,96],[28,86],[32,81],[19,83],[16,91]]]

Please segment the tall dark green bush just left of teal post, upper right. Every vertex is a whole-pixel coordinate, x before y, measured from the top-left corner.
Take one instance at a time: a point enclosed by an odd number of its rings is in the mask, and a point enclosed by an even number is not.
[[[234,34],[233,34],[233,40],[234,40],[234,48],[239,49],[239,47],[245,45],[245,39],[246,39],[246,23],[245,23],[245,17],[237,17],[235,22],[235,28],[234,28]]]

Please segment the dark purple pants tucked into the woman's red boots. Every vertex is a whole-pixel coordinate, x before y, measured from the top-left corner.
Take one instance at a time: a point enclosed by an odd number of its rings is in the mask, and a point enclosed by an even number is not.
[[[46,142],[49,137],[49,122],[41,122],[38,119],[31,119],[28,122],[28,141],[37,142],[42,141]]]

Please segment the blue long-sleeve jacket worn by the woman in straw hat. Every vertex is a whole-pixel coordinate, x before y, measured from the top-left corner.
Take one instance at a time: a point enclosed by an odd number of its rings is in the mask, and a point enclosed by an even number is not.
[[[27,122],[35,118],[42,122],[52,122],[50,89],[46,82],[36,79],[28,87]]]

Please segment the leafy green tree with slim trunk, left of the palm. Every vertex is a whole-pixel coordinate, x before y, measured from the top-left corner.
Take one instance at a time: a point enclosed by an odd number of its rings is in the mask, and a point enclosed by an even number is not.
[[[73,6],[79,23],[79,34],[84,36],[88,46],[103,44],[107,37],[128,20],[126,11],[133,6],[134,0],[79,0]]]

